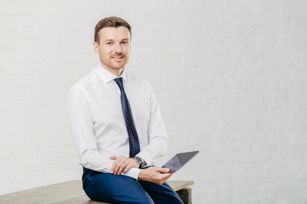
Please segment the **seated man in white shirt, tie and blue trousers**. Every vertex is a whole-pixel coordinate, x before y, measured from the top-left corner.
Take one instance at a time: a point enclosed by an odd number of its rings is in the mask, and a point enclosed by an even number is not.
[[[125,20],[100,20],[93,43],[100,63],[69,93],[83,189],[91,199],[110,203],[183,203],[165,183],[169,169],[150,166],[165,154],[167,134],[150,85],[124,68],[130,41]]]

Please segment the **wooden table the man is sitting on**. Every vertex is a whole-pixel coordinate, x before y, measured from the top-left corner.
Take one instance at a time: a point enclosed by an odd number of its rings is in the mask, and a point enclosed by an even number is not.
[[[193,181],[168,181],[184,203],[191,203],[191,188]],[[0,195],[3,204],[103,204],[86,196],[81,181],[70,181],[25,191]]]

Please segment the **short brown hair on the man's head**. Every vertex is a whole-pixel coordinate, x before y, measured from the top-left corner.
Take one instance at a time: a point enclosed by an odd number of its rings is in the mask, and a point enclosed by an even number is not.
[[[126,27],[129,32],[130,32],[130,36],[131,36],[131,27],[129,25],[129,23],[127,23],[127,21],[116,17],[116,16],[111,16],[111,17],[106,17],[101,19],[97,25],[95,26],[95,32],[94,32],[94,41],[97,42],[99,44],[99,31],[105,27],[113,27],[113,28],[117,28],[117,27]]]

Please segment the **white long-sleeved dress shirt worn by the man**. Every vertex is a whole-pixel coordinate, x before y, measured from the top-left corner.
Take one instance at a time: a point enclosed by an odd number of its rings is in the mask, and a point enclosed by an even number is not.
[[[136,156],[152,165],[167,149],[159,105],[148,82],[125,69],[120,77],[139,136],[141,151]],[[129,157],[128,133],[115,78],[99,63],[72,86],[68,96],[70,130],[81,164],[99,172],[111,172],[115,160],[110,156]],[[122,174],[138,179],[139,172],[139,168],[131,168]]]

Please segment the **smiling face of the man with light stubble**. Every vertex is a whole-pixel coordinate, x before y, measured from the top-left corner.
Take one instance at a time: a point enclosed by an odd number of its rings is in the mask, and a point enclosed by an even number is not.
[[[126,27],[106,27],[99,31],[99,45],[94,42],[95,53],[99,54],[101,65],[108,71],[123,68],[130,55],[131,35]]]

